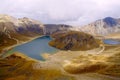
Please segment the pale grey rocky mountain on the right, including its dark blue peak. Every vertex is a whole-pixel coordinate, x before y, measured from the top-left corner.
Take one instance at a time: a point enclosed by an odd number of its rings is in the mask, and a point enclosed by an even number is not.
[[[106,17],[93,23],[80,27],[78,30],[93,35],[107,35],[120,33],[120,19]]]

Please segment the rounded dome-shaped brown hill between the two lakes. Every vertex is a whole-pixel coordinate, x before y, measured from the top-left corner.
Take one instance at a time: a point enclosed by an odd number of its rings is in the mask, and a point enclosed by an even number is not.
[[[89,50],[99,47],[98,41],[93,36],[83,32],[56,33],[53,38],[55,39],[49,44],[62,50]]]

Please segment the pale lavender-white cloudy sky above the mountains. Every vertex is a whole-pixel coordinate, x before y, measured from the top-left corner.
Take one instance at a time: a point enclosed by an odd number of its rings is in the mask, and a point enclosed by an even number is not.
[[[0,0],[0,14],[29,17],[45,24],[89,24],[120,18],[120,0]]]

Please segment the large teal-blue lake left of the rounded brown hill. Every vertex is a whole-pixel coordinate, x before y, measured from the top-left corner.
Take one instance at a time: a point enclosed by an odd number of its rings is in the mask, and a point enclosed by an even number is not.
[[[28,42],[26,44],[17,46],[14,48],[14,50],[24,53],[31,58],[35,58],[38,60],[44,60],[41,57],[41,54],[44,54],[44,53],[53,54],[58,51],[56,48],[53,48],[48,45],[48,42],[50,40],[51,38],[49,36],[43,36],[31,42]]]

